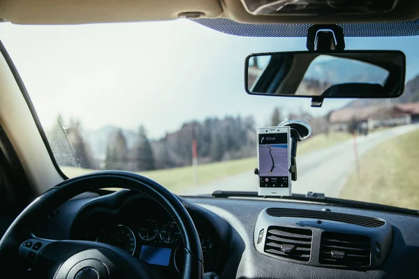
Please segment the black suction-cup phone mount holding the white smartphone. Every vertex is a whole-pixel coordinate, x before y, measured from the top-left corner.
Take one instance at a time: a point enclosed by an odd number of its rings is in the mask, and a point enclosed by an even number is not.
[[[279,123],[278,127],[289,126],[290,133],[290,149],[291,149],[291,180],[297,181],[297,144],[311,135],[311,127],[308,123],[300,120],[286,120]],[[255,174],[259,174],[259,169],[256,167]]]

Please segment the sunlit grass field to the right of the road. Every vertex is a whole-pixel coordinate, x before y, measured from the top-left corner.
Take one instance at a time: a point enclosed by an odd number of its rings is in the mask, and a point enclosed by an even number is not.
[[[394,137],[360,158],[340,196],[365,202],[419,209],[419,131]]]

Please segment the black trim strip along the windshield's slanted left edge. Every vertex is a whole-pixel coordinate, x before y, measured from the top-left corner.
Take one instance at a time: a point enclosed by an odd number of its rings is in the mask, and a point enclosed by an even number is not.
[[[32,117],[34,118],[36,128],[38,128],[39,134],[41,135],[41,138],[45,144],[45,148],[47,149],[48,154],[50,155],[52,165],[54,165],[55,169],[57,169],[57,172],[59,173],[59,175],[61,175],[61,177],[64,180],[68,179],[68,176],[66,176],[66,174],[64,174],[64,172],[61,171],[61,169],[59,168],[59,165],[57,164],[57,161],[55,160],[54,153],[52,152],[50,143],[47,140],[47,135],[45,135],[45,131],[42,128],[41,121],[38,118],[38,114],[36,114],[36,110],[35,110],[34,104],[32,103],[31,97],[29,96],[26,86],[24,86],[23,80],[20,77],[19,72],[17,72],[17,68],[15,67],[15,64],[13,63],[10,55],[8,54],[6,50],[6,47],[4,47],[3,42],[1,40],[0,40],[0,52],[3,55],[4,59],[6,60],[6,63],[8,64],[10,71],[13,74],[13,77],[15,77],[17,86],[19,86],[20,92],[22,92],[22,96],[29,107],[29,111],[31,112]]]

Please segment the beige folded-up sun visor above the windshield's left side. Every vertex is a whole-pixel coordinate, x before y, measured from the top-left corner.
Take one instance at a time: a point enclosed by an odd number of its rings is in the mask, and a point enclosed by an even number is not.
[[[218,0],[0,0],[0,19],[17,24],[82,24],[219,17]]]

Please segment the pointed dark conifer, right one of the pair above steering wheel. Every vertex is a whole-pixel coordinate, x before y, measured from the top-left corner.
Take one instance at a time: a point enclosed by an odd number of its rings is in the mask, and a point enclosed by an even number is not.
[[[134,144],[132,157],[133,170],[155,169],[152,146],[147,138],[144,126],[140,126],[138,129],[138,141]]]

